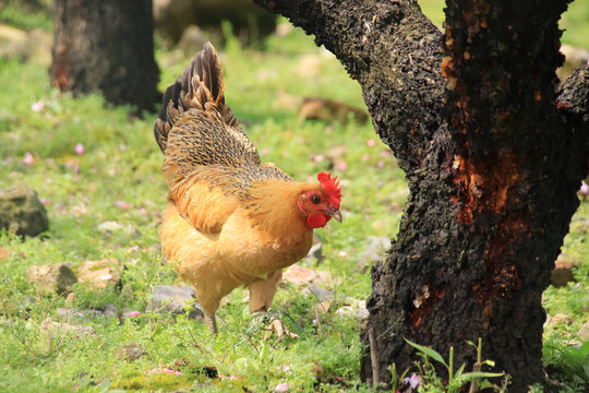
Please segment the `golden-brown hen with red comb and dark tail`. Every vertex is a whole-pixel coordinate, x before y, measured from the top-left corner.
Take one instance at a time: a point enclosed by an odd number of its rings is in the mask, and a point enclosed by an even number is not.
[[[320,172],[318,182],[297,182],[261,164],[225,104],[209,43],[166,90],[154,134],[169,189],[163,253],[194,286],[208,329],[216,333],[219,302],[238,286],[250,289],[250,312],[266,312],[283,269],[309,252],[313,229],[341,222],[337,177]]]

